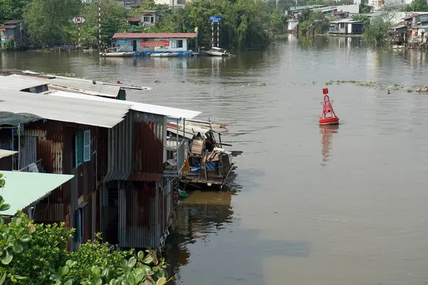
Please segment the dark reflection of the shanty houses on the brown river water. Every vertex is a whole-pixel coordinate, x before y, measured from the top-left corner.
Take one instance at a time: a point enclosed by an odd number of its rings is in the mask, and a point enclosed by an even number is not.
[[[192,192],[178,205],[167,241],[172,284],[266,284],[263,259],[310,257],[310,242],[260,239],[260,230],[238,227],[235,195]]]

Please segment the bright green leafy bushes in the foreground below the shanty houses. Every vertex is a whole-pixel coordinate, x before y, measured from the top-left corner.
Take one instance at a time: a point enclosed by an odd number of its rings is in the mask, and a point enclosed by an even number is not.
[[[5,180],[0,175],[0,187]],[[10,209],[0,196],[1,211]],[[96,240],[67,252],[72,231],[64,224],[35,224],[18,213],[0,220],[0,284],[164,285],[170,279],[156,252],[118,252]]]

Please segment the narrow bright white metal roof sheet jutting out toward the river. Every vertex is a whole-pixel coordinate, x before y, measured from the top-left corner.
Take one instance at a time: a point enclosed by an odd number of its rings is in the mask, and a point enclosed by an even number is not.
[[[78,98],[78,99],[84,99],[84,100],[90,100],[90,101],[114,103],[117,105],[127,105],[129,106],[128,108],[130,108],[131,110],[135,110],[143,113],[164,115],[171,118],[193,119],[201,113],[199,111],[193,111],[193,110],[170,108],[170,107],[165,107],[160,105],[137,103],[137,102],[128,101],[128,100],[116,100],[116,99],[102,98],[102,97],[96,97],[96,96],[87,96],[82,94],[66,93],[61,91],[52,92],[52,93],[49,93],[49,95],[52,95],[53,97],[58,96],[58,97]]]

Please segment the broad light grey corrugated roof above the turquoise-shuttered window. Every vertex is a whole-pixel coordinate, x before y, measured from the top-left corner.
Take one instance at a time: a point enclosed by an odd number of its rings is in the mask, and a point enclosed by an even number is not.
[[[63,93],[67,94],[67,92]],[[68,94],[73,95],[73,93]],[[97,98],[96,96],[86,97]],[[128,110],[129,105],[111,102],[0,89],[0,111],[31,113],[41,118],[61,122],[113,128],[123,120]]]

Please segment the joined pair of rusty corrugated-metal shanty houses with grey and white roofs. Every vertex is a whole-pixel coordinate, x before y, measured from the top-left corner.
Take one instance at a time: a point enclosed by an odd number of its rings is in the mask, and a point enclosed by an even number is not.
[[[121,248],[160,247],[184,166],[183,140],[168,144],[167,120],[200,112],[49,86],[0,77],[0,169],[73,175],[35,204],[33,219],[76,228],[71,250],[96,232]]]

